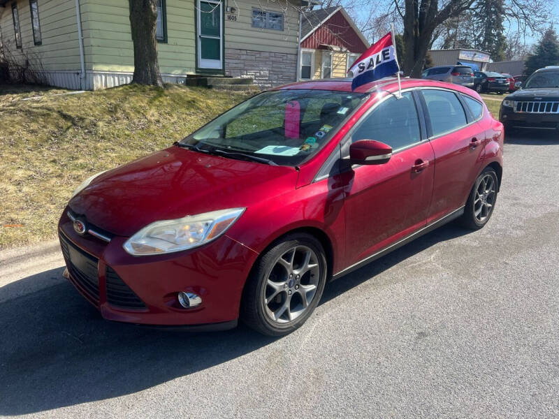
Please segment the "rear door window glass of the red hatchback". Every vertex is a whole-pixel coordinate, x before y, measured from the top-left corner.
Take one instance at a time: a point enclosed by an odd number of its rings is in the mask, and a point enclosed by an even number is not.
[[[454,131],[467,124],[466,114],[456,94],[447,90],[421,90],[427,104],[432,135]]]

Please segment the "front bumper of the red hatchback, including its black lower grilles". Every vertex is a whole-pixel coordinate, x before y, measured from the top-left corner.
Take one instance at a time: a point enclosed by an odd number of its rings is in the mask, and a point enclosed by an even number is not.
[[[126,237],[109,243],[78,235],[66,211],[59,221],[68,280],[110,321],[145,325],[234,327],[240,297],[258,254],[223,235],[198,249],[162,256],[126,253]],[[202,304],[184,309],[177,293],[190,291]],[[219,323],[219,324],[215,324]]]

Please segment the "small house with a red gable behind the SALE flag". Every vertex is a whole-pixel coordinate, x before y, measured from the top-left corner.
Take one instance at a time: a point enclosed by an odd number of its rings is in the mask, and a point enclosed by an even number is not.
[[[370,46],[342,6],[310,10],[302,20],[298,80],[347,77]]]

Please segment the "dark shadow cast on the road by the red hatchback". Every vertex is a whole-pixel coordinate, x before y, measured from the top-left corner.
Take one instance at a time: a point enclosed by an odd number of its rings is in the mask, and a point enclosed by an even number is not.
[[[453,224],[435,230],[328,284],[321,304],[433,244],[466,233]],[[47,277],[59,270],[46,272]],[[31,280],[10,284],[9,292],[17,293],[14,287],[28,286]],[[226,332],[192,334],[111,323],[66,281],[23,294],[0,303],[0,416],[128,395],[276,340],[243,325]]]

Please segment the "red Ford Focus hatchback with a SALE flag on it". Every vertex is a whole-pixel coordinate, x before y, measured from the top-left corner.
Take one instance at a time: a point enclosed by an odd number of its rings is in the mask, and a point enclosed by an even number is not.
[[[483,227],[503,127],[456,84],[301,82],[87,179],[59,222],[65,276],[104,318],[298,328],[326,282],[460,219]]]

